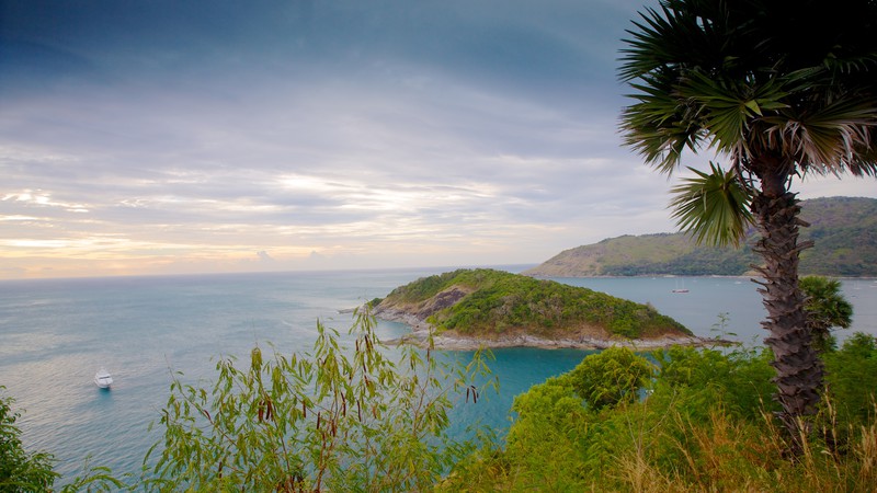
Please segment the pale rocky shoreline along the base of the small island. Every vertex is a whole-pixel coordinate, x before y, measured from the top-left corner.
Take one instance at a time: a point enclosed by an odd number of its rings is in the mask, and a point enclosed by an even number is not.
[[[411,333],[399,339],[385,341],[386,344],[412,344],[419,347],[430,345],[430,334],[434,328],[425,320],[407,311],[378,308],[374,313],[376,318],[390,322],[400,322],[411,328]],[[724,346],[734,344],[731,341],[704,339],[696,335],[664,335],[654,339],[629,340],[623,337],[594,337],[579,336],[576,339],[547,339],[533,334],[499,334],[494,337],[472,337],[453,331],[443,332],[432,336],[432,348],[447,351],[475,351],[479,348],[499,347],[537,347],[544,349],[605,349],[613,346],[624,346],[637,351],[651,351],[667,348],[675,345],[683,346]]]

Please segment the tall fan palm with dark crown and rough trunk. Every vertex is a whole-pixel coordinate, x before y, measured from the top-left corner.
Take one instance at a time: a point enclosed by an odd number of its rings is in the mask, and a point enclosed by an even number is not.
[[[750,221],[763,257],[762,325],[774,353],[793,452],[819,401],[822,365],[798,285],[807,175],[877,174],[877,4],[874,0],[662,0],[628,30],[619,77],[634,90],[625,144],[671,174],[685,148],[711,164],[676,187],[675,217],[701,241],[739,244]],[[751,211],[751,215],[750,215]]]

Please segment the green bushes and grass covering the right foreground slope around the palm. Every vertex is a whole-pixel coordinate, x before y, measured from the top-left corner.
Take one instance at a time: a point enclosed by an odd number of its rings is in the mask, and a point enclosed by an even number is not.
[[[823,437],[844,440],[842,447],[815,437],[800,460],[784,459],[783,434],[771,419],[778,406],[768,398],[775,375],[768,349],[672,347],[653,355],[658,372],[635,402],[589,405],[574,388],[577,370],[532,387],[515,398],[505,447],[462,461],[437,489],[873,491],[875,344],[856,335],[827,356],[830,386],[838,388],[823,401],[827,415],[835,410]],[[855,411],[842,417],[841,409]]]

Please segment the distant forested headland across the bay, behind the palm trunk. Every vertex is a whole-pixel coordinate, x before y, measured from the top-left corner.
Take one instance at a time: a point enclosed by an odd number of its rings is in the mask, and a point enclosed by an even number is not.
[[[877,276],[877,199],[830,197],[801,202],[802,275]],[[744,275],[760,263],[747,246],[698,246],[683,233],[624,236],[566,250],[523,274],[537,277]]]

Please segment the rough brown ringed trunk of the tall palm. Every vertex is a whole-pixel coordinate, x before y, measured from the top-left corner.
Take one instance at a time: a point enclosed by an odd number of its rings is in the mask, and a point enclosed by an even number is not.
[[[809,225],[798,218],[800,206],[793,193],[758,193],[752,213],[761,232],[753,250],[764,259],[764,265],[755,267],[763,277],[756,283],[767,309],[762,326],[770,335],[764,343],[774,353],[774,398],[783,406],[777,417],[790,435],[791,452],[797,455],[809,433],[806,417],[816,412],[819,403],[823,375],[822,362],[811,345],[805,297],[798,286],[798,256],[812,242],[798,244],[798,228]]]

